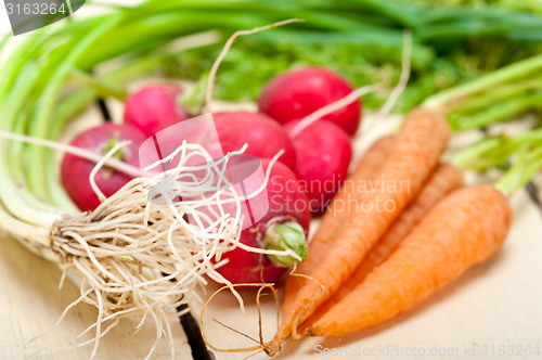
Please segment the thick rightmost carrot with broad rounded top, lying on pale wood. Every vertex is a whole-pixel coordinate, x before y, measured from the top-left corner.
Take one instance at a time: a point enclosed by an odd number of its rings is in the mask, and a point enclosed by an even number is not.
[[[422,301],[501,247],[512,221],[491,185],[455,191],[435,206],[399,248],[307,330],[339,336],[376,325]]]

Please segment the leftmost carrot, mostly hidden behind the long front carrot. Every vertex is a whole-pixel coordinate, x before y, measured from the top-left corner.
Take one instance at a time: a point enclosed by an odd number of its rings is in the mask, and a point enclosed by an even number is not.
[[[318,267],[320,259],[325,257],[333,246],[335,233],[340,224],[348,219],[346,207],[339,210],[339,204],[348,202],[359,202],[363,193],[356,192],[356,189],[364,183],[372,181],[379,173],[382,165],[389,155],[392,144],[396,140],[395,136],[387,136],[375,141],[375,143],[365,152],[361,160],[358,163],[354,171],[348,177],[339,191],[335,194],[324,213],[320,227],[317,230],[312,241],[309,244],[309,257],[298,265],[297,271],[310,274],[314,267]],[[351,185],[350,185],[351,184]],[[288,309],[294,305],[294,294],[299,291],[304,284],[298,278],[291,278],[285,286],[285,295],[282,304],[283,312],[287,313]]]

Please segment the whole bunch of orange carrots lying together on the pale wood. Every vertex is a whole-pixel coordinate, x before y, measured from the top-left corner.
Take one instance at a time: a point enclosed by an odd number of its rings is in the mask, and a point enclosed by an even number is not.
[[[492,185],[463,188],[461,170],[440,163],[450,132],[440,112],[420,107],[366,152],[286,283],[270,356],[289,335],[339,336],[382,323],[499,249],[511,224],[507,197]],[[379,185],[356,185],[367,182]],[[399,183],[408,187],[388,187]]]

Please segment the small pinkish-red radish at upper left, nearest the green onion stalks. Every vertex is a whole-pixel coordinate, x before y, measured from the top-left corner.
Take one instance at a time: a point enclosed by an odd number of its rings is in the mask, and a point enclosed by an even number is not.
[[[189,118],[178,104],[182,89],[177,85],[163,83],[143,88],[126,100],[125,123],[133,125],[147,137]]]

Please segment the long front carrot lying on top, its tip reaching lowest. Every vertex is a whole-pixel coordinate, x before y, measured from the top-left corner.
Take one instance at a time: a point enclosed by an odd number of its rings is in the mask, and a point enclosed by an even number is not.
[[[270,355],[276,353],[296,323],[307,320],[363,260],[389,224],[421,191],[449,139],[450,129],[440,113],[416,108],[409,114],[383,165],[378,183],[369,187],[363,195],[364,206],[350,211],[348,221],[341,221],[341,228],[335,235],[338,241],[310,274],[313,281],[304,280],[294,294],[295,299],[288,301],[287,307],[283,306],[284,319],[270,343]],[[383,208],[384,205],[387,207]],[[310,257],[309,253],[307,258]]]

